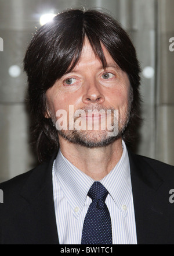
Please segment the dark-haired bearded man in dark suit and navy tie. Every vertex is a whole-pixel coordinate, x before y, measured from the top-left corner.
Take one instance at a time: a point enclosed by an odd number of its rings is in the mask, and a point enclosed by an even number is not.
[[[140,67],[121,26],[62,12],[32,38],[24,70],[42,164],[1,184],[1,244],[172,244],[173,167],[126,146]]]

